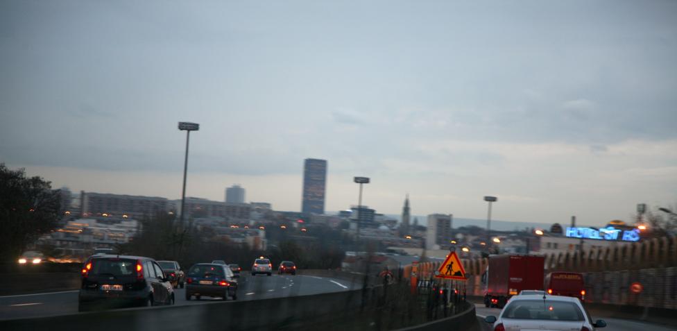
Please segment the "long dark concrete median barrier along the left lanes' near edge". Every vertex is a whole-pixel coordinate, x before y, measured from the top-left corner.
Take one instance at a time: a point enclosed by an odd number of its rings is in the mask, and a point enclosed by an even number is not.
[[[279,330],[353,312],[361,291],[0,321],[0,330]],[[349,316],[346,316],[349,318]]]

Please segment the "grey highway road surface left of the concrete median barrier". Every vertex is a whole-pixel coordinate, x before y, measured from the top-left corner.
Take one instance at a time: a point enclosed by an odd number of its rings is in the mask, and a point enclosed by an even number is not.
[[[237,291],[239,300],[258,300],[286,296],[305,296],[360,288],[348,280],[312,275],[257,275],[242,274]],[[200,305],[217,298],[187,301],[184,289],[174,289],[175,305]],[[59,291],[43,294],[0,296],[0,320],[25,319],[78,313],[78,291]]]

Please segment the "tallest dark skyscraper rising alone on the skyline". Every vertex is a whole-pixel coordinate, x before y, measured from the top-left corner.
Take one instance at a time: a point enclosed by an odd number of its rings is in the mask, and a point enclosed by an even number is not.
[[[303,165],[301,212],[324,214],[327,160],[306,159]]]

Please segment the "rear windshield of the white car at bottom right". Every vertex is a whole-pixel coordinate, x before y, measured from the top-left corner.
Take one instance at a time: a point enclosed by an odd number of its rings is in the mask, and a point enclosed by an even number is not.
[[[549,321],[584,321],[578,305],[566,301],[514,300],[508,304],[502,319],[540,319]]]

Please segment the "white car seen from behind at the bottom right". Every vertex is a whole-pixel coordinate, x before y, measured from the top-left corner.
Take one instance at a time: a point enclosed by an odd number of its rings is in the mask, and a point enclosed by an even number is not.
[[[601,319],[593,323],[581,300],[569,296],[513,296],[498,319],[486,316],[484,321],[493,323],[494,331],[594,331],[606,326]]]

